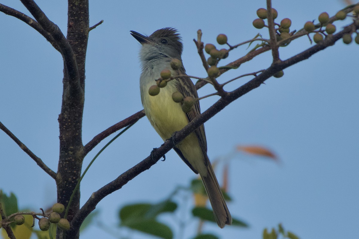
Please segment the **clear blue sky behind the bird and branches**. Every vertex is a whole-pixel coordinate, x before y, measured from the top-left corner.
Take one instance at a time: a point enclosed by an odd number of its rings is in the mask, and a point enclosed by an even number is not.
[[[1,3],[23,11],[19,1]],[[37,1],[37,4],[66,32],[66,1]],[[339,0],[273,1],[278,21],[292,19],[291,29],[317,19],[323,11],[334,15],[345,5]],[[229,43],[253,38],[265,29],[255,29],[256,10],[265,7],[255,1],[90,1],[90,25],[104,23],[89,34],[86,61],[86,89],[83,141],[142,109],[139,95],[140,44],[130,30],[151,34],[163,27],[177,28],[183,37],[183,63],[188,75],[205,76],[196,53],[196,31],[202,40],[215,43],[225,33]],[[61,107],[62,58],[40,34],[22,21],[0,14],[0,121],[53,170],[59,156],[57,117]],[[337,30],[346,19],[337,24]],[[280,48],[281,59],[304,51],[311,45],[306,37]],[[359,126],[358,48],[337,42],[306,61],[288,69],[282,78],[270,78],[205,124],[208,155],[215,159],[234,151],[236,145],[256,144],[273,150],[280,164],[245,154],[230,161],[228,207],[234,217],[250,224],[248,229],[206,225],[205,232],[222,238],[261,238],[265,227],[283,223],[301,238],[356,238],[359,234]],[[231,52],[226,64],[247,53],[246,47]],[[254,72],[270,66],[265,53],[237,70],[220,77]],[[234,89],[250,78],[228,86]],[[210,86],[199,90],[203,96]],[[201,101],[202,111],[218,98]],[[109,138],[110,139],[110,138]],[[108,139],[108,140],[109,140]],[[84,161],[108,142],[104,140]],[[106,142],[105,142],[106,141]],[[55,182],[47,176],[3,132],[0,132],[0,188],[14,192],[19,206],[38,210],[56,201]],[[146,118],[137,122],[111,144],[90,168],[81,183],[81,204],[92,192],[147,157],[162,143]],[[193,172],[176,153],[107,196],[97,206],[98,220],[116,225],[117,209],[128,203],[164,199],[176,185],[186,185]],[[218,178],[221,181],[221,167]],[[173,220],[164,217],[167,223]],[[167,221],[168,220],[168,221]],[[195,222],[195,221],[194,221]],[[172,225],[172,224],[171,224]],[[194,229],[194,228],[192,228]],[[127,235],[121,231],[119,235]],[[108,234],[105,234],[106,236]],[[133,238],[146,238],[129,234]],[[194,235],[191,227],[185,238]],[[97,226],[80,238],[103,237]],[[108,235],[107,238],[113,238]]]

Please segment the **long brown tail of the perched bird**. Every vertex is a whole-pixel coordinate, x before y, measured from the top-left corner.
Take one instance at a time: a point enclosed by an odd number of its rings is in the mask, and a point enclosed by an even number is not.
[[[232,224],[232,216],[230,216],[227,204],[224,201],[223,193],[219,187],[218,180],[214,174],[211,163],[208,160],[208,173],[206,176],[201,175],[203,185],[206,189],[209,201],[214,212],[214,217],[220,228],[224,228],[225,224]]]

